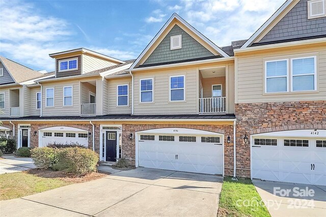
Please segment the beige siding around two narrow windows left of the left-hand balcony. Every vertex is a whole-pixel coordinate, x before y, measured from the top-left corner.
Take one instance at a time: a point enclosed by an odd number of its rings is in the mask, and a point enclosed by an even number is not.
[[[63,106],[63,88],[72,86],[72,106]],[[54,106],[45,106],[46,89],[54,88]],[[42,115],[43,116],[78,116],[80,115],[79,81],[66,81],[43,85]]]

